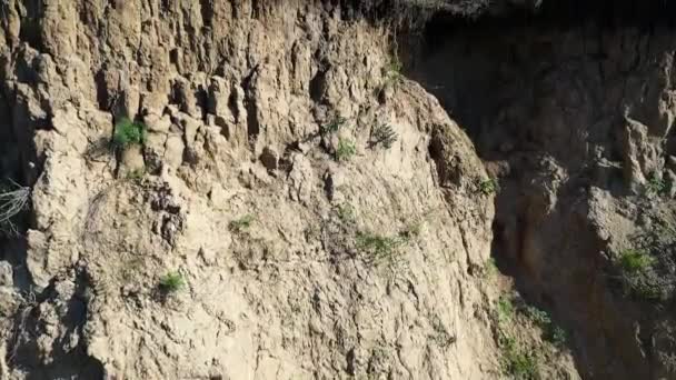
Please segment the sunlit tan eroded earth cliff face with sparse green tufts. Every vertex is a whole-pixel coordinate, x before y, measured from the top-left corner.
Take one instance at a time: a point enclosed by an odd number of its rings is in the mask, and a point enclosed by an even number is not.
[[[32,189],[0,378],[498,376],[486,172],[385,30],[301,1],[0,10],[0,169]],[[125,118],[141,144],[110,144]]]

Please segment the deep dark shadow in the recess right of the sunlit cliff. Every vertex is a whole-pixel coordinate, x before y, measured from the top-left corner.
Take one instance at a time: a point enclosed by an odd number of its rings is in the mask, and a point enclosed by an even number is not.
[[[587,216],[595,191],[632,194],[623,109],[649,119],[634,82],[649,81],[675,27],[674,2],[545,1],[509,17],[440,13],[421,37],[399,41],[407,76],[439,99],[499,179],[499,269],[571,332],[585,379],[657,373],[645,329],[654,308],[615,289],[607,242]]]

